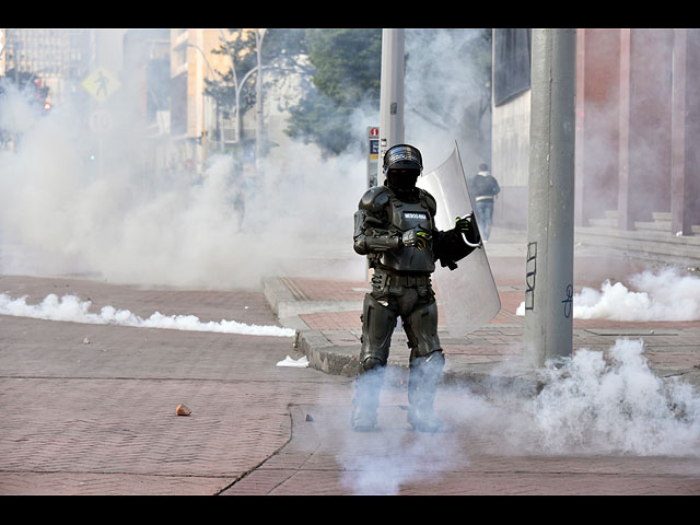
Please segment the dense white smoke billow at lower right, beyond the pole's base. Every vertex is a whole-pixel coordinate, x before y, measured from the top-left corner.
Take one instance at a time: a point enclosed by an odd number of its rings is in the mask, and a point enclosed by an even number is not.
[[[700,454],[700,397],[656,376],[641,340],[620,339],[604,359],[579,350],[529,405],[542,451],[634,455]]]

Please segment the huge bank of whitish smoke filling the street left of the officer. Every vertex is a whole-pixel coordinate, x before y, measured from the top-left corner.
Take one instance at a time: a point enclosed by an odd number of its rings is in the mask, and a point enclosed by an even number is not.
[[[0,150],[3,273],[257,288],[267,276],[323,275],[315,261],[327,256],[338,259],[336,277],[361,278],[348,241],[366,179],[359,155],[323,161],[315,147],[293,144],[264,161],[266,182],[252,188],[228,155],[211,156],[201,174],[143,173],[143,137],[126,117],[98,166],[81,122],[68,104],[39,115],[16,91],[0,97],[0,129],[21,139]]]

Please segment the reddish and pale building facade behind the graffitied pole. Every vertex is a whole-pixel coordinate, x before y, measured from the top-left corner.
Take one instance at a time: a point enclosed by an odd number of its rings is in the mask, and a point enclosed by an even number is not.
[[[517,77],[517,65],[529,62],[528,48],[513,49],[528,39],[499,31],[513,30],[494,30],[492,171],[503,188],[495,221],[525,229],[528,79],[502,100],[495,90],[499,68]],[[510,55],[499,56],[499,38]],[[576,226],[700,234],[698,66],[698,30],[576,31]]]

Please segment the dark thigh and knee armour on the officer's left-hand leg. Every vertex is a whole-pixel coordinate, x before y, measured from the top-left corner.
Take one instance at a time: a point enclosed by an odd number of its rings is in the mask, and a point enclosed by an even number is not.
[[[377,364],[386,364],[395,327],[396,314],[368,293],[362,306],[360,363],[363,369],[369,370],[366,366],[374,368]],[[370,359],[373,361],[369,362]]]

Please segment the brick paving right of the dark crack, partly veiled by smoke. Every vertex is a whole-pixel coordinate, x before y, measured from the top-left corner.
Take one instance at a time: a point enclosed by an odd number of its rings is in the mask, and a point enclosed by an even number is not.
[[[697,457],[514,450],[471,418],[427,436],[407,430],[400,402],[383,399],[381,429],[361,436],[345,406],[292,407],[291,443],[223,495],[700,494]]]

